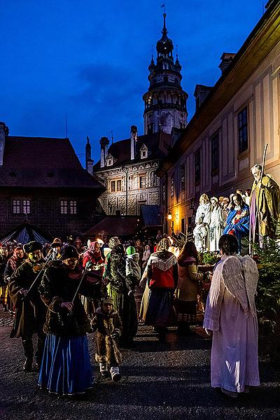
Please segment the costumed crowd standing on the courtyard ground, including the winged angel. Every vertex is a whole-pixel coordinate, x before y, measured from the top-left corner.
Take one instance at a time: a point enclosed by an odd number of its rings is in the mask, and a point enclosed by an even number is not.
[[[222,235],[218,247],[222,258],[214,269],[204,328],[209,335],[213,332],[212,386],[235,398],[259,383],[254,307],[258,272],[250,257],[237,255],[234,236]],[[10,258],[1,246],[0,255],[2,308],[15,314],[10,337],[21,337],[23,369],[37,369],[38,386],[50,393],[77,395],[92,388],[91,332],[99,372],[112,381],[121,379],[122,349],[135,346],[139,319],[153,327],[160,341],[169,326],[176,326],[179,335],[195,335],[191,326],[196,323],[197,295],[208,274],[199,266],[193,241],[177,249],[172,238],[158,232],[155,244],[139,239],[122,244],[111,237],[108,244],[96,239],[83,247],[79,238],[73,244],[55,238],[50,246],[17,244]],[[238,287],[226,277],[232,267]],[[250,288],[243,281],[242,289],[242,273]],[[143,290],[139,313],[137,288]],[[223,360],[230,360],[229,369]]]

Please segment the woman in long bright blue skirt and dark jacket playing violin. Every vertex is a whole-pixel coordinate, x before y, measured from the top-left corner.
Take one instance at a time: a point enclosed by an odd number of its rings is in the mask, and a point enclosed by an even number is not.
[[[90,321],[80,298],[73,297],[81,279],[78,252],[73,246],[62,248],[61,260],[45,270],[39,291],[48,306],[44,325],[45,349],[38,386],[50,393],[74,395],[92,388],[92,367],[87,348]],[[79,293],[90,295],[84,281]]]

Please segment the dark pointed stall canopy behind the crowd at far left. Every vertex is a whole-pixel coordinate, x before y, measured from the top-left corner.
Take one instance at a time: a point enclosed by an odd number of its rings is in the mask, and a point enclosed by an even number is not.
[[[30,241],[38,241],[45,244],[50,240],[38,230],[34,225],[23,223],[0,239],[0,244],[7,245],[9,242],[17,242],[18,244],[27,244]]]

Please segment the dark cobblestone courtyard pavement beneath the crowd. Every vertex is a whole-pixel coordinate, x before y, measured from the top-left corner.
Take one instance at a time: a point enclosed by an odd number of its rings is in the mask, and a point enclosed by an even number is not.
[[[260,359],[262,384],[229,400],[211,388],[211,340],[198,328],[195,337],[169,330],[158,342],[150,327],[139,326],[136,347],[123,351],[118,384],[100,379],[94,367],[94,389],[83,400],[57,398],[36,386],[37,372],[22,371],[20,339],[10,339],[10,316],[0,311],[1,420],[38,419],[280,419],[280,371]],[[94,360],[94,336],[89,335]]]

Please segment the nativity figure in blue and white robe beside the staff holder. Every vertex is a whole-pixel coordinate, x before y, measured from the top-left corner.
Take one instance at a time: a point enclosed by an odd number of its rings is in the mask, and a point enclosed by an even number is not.
[[[249,208],[242,200],[240,194],[232,195],[231,207],[227,218],[227,225],[223,231],[224,234],[234,235],[238,243],[238,252],[242,251],[242,239],[248,238],[249,235]],[[247,248],[247,246],[246,246]]]

